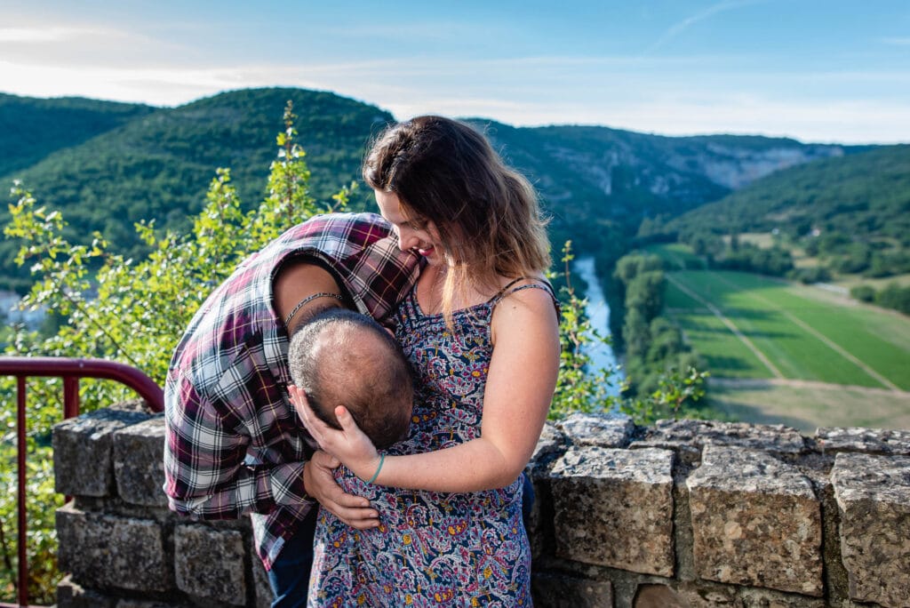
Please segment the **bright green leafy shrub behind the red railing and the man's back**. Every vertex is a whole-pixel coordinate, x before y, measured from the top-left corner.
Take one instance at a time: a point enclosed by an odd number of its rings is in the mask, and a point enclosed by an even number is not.
[[[258,208],[243,212],[230,172],[219,169],[208,189],[207,205],[187,234],[158,234],[151,224],[136,224],[151,250],[139,261],[108,254],[100,235],[88,246],[69,242],[63,236],[66,221],[61,214],[37,207],[35,198],[17,184],[5,235],[22,242],[16,260],[30,263],[38,278],[24,306],[44,306],[63,321],[47,337],[18,329],[7,338],[5,354],[117,360],[162,385],[177,340],[209,292],[241,259],[286,228],[329,210],[317,208],[309,196],[309,172],[295,141],[294,118],[288,104],[287,128],[278,135],[278,159],[270,167],[268,194]],[[337,204],[343,205],[348,193],[347,188],[339,192]],[[7,429],[15,428],[15,380],[0,379],[0,385],[0,416]],[[53,453],[47,440],[63,411],[60,382],[30,380],[28,394],[29,594],[35,603],[53,603],[58,578],[54,512],[63,497],[54,492]],[[83,411],[131,396],[116,382],[80,382]],[[7,439],[2,447],[0,479],[7,488],[15,488],[15,441]],[[0,551],[6,558],[0,561],[0,575],[10,582],[0,594],[12,599],[15,491],[0,496],[0,526],[4,532]]]

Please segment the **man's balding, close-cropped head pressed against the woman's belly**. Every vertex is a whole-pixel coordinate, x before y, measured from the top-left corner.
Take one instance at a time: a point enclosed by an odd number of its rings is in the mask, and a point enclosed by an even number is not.
[[[347,309],[320,312],[290,341],[291,378],[322,421],[339,429],[344,405],[377,448],[405,437],[413,383],[398,343],[375,320]]]

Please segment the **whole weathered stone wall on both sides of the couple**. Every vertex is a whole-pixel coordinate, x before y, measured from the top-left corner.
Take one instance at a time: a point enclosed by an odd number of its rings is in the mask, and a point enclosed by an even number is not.
[[[164,424],[56,427],[61,608],[268,606],[248,521],[167,511]],[[910,431],[574,415],[529,465],[538,606],[910,606]]]

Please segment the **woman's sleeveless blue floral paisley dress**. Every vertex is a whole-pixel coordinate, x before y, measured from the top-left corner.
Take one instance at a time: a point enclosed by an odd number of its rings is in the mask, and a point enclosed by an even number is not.
[[[417,377],[414,413],[408,439],[387,453],[441,450],[480,435],[493,309],[516,290],[548,287],[507,287],[457,310],[454,331],[441,315],[423,314],[411,290],[397,313],[396,338]],[[345,491],[369,498],[380,524],[359,531],[320,510],[309,606],[531,605],[521,479],[499,490],[449,493],[369,485],[344,467],[336,478]]]

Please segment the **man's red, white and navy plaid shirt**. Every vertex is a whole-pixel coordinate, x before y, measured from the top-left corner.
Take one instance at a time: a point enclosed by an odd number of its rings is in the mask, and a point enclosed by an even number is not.
[[[253,513],[268,569],[313,506],[303,484],[308,435],[288,401],[288,333],[272,302],[278,268],[300,256],[319,260],[355,308],[379,320],[419,272],[419,257],[399,251],[383,218],[312,218],[247,258],[206,299],[165,384],[170,508],[203,519]]]

